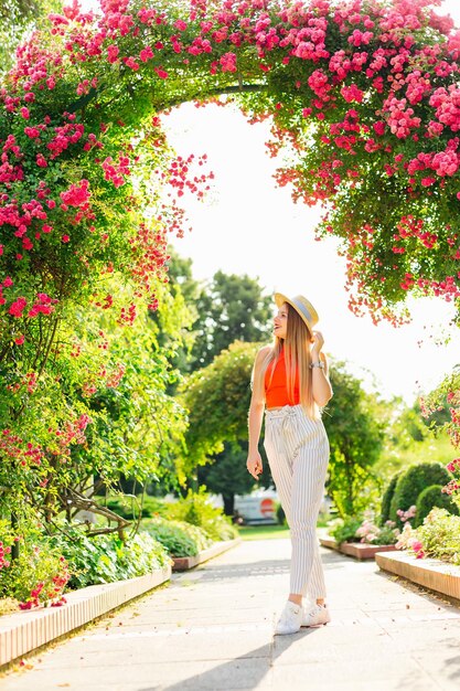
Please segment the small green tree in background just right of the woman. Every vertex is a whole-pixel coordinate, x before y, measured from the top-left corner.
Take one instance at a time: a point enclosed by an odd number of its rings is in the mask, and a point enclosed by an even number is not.
[[[383,447],[387,406],[343,362],[331,361],[330,379],[334,395],[323,413],[331,447],[328,492],[344,518],[378,500],[381,480],[372,468]]]

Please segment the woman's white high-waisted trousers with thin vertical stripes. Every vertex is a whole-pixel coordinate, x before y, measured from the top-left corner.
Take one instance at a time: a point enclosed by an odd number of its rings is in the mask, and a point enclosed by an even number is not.
[[[266,411],[264,447],[290,528],[290,593],[325,597],[317,536],[330,451],[323,422],[301,405]]]

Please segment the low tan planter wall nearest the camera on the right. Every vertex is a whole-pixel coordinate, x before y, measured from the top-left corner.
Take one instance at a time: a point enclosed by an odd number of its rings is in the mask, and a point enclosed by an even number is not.
[[[438,559],[416,559],[402,550],[394,554],[377,554],[375,561],[383,571],[460,600],[460,566]]]

